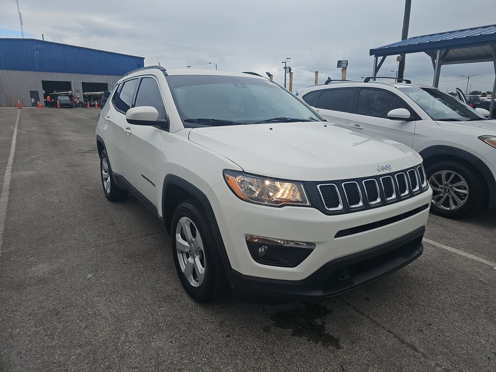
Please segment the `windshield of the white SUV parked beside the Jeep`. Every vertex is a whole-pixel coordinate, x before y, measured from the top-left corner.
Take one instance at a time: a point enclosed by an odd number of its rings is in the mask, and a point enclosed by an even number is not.
[[[398,88],[415,101],[433,120],[486,120],[484,116],[455,97],[434,88]]]

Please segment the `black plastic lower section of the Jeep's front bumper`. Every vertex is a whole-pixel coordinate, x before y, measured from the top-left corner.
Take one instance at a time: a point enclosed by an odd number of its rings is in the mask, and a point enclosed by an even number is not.
[[[418,258],[425,227],[380,246],[327,262],[302,280],[277,280],[228,272],[234,295],[242,301],[260,298],[321,301],[371,283]]]

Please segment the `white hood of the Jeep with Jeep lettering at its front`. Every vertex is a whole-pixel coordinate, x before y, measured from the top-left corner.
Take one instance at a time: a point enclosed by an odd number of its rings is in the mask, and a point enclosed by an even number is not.
[[[295,181],[368,177],[379,172],[377,165],[389,164],[394,172],[422,162],[401,143],[323,122],[193,128],[189,140],[247,173]]]

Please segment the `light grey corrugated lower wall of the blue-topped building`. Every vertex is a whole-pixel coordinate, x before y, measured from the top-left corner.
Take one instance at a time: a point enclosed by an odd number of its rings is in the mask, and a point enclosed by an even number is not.
[[[82,101],[81,82],[108,83],[109,89],[112,89],[122,76],[0,70],[0,106],[10,106],[10,96],[12,96],[14,106],[17,106],[19,99],[23,107],[30,107],[30,90],[38,91],[40,101],[43,100],[42,80],[70,81],[74,95],[79,94]],[[44,105],[43,102],[41,104]]]

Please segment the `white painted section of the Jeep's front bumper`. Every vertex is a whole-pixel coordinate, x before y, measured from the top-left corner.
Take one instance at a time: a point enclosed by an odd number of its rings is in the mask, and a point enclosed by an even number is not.
[[[328,262],[394,241],[426,225],[432,190],[401,202],[361,212],[326,215],[315,208],[268,207],[239,199],[221,180],[207,193],[219,227],[227,271],[251,277],[299,281],[306,279]],[[408,215],[416,208],[423,210]],[[403,215],[405,218],[397,219]],[[353,230],[387,221],[366,231]],[[347,231],[346,236],[338,233]],[[351,231],[353,230],[353,231]],[[296,267],[279,267],[256,262],[246,242],[247,235],[310,242],[315,248]],[[336,237],[337,236],[337,237]]]

